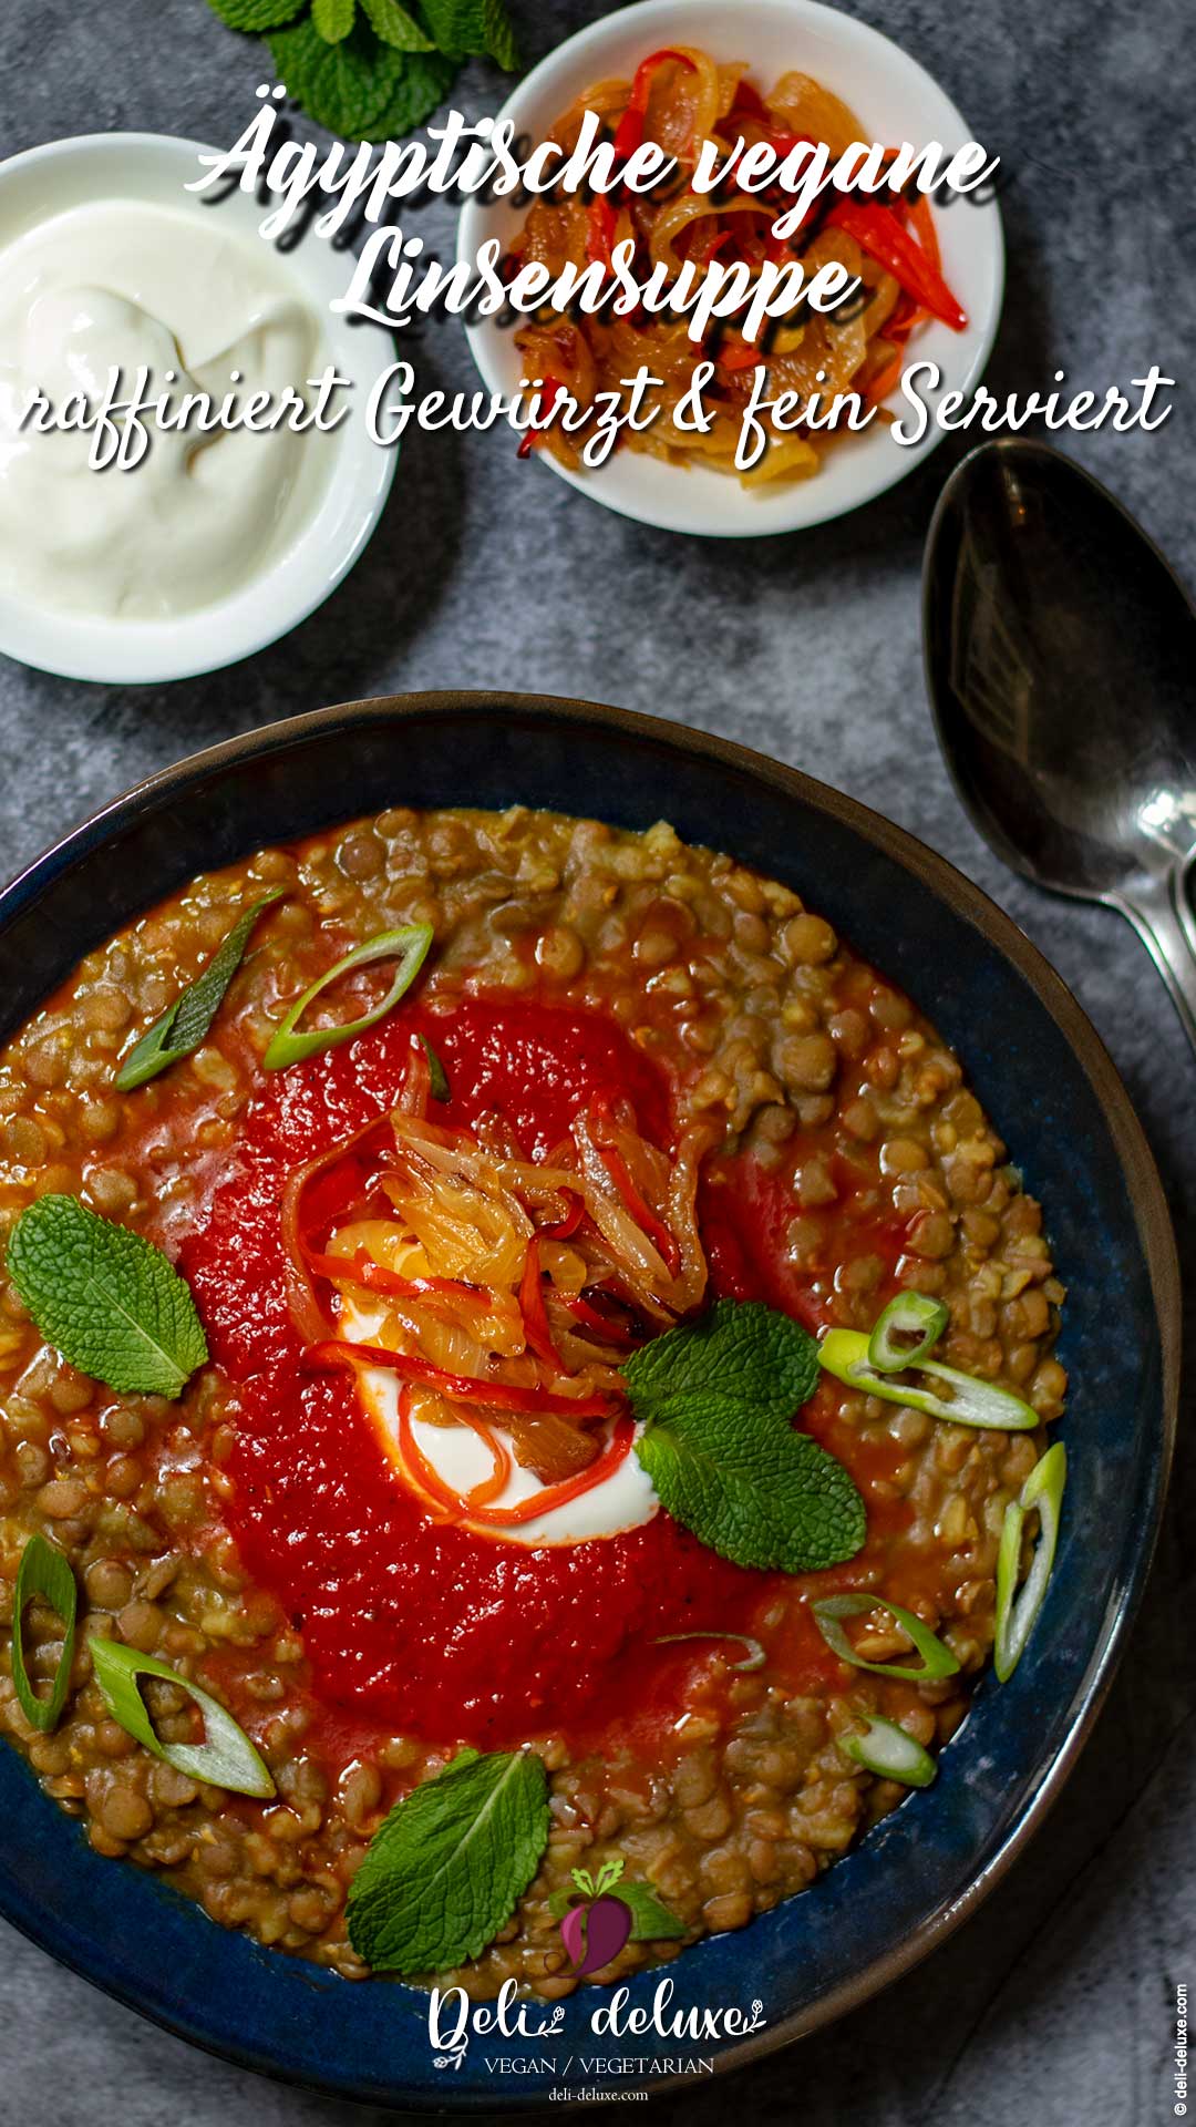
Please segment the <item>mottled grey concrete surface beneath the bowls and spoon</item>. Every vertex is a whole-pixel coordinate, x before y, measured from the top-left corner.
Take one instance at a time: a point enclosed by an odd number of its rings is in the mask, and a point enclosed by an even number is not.
[[[530,51],[596,13],[513,0]],[[734,0],[728,0],[734,9]],[[1070,447],[1196,583],[1187,0],[868,0],[1015,172],[1009,300],[990,381],[1181,381],[1153,436]],[[264,79],[260,47],[202,0],[40,0],[6,11],[4,153],[72,132],[153,128],[228,143]],[[475,68],[462,98],[496,106]],[[460,100],[462,100],[460,98]],[[421,215],[447,251],[451,211]],[[1187,249],[1185,249],[1187,247]],[[470,381],[455,325],[419,340],[426,385]],[[404,449],[375,545],[287,642],[211,681],[83,687],[0,659],[0,868],[17,870],[149,770],[272,717],[406,687],[555,689],[730,732],[864,798],[977,878],[1045,949],[1109,1042],[1160,1159],[1181,1249],[1196,1215],[1194,1061],[1117,917],[1015,883],[960,813],[930,734],[917,568],[953,440],[870,510],[790,540],[675,538],[589,506],[509,436]],[[1132,715],[1132,704],[1128,704]],[[998,1895],[868,2010],[679,2099],[804,2127],[1149,2127],[1170,2118],[1173,1987],[1196,1946],[1196,1478],[1181,1444],[1168,1529],[1130,1655],[1049,1827]],[[0,2121],[23,2127],[349,2127],[151,2029],[0,1925]],[[1190,1976],[1190,1974],[1187,1974]],[[658,2118],[668,2114],[668,2106]]]

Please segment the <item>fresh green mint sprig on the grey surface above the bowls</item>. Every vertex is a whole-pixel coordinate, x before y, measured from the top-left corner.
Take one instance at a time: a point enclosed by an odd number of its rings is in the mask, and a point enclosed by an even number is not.
[[[396,140],[443,104],[458,66],[506,72],[519,47],[504,0],[209,0],[230,30],[266,36],[279,81],[345,140]]]

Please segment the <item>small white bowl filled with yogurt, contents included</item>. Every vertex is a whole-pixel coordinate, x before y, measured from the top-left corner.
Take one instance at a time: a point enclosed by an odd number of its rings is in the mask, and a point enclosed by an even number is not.
[[[240,191],[187,194],[200,153],[104,134],[0,166],[0,649],[72,679],[181,679],[277,640],[394,474],[362,419],[394,347],[330,311],[345,257],[311,234],[281,253]],[[89,425],[53,425],[72,406]]]

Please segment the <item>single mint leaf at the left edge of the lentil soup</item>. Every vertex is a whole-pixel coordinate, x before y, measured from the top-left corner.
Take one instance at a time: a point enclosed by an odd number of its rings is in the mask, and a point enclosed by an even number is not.
[[[109,1389],[175,1400],[209,1355],[185,1278],[79,1198],[45,1195],[21,1212],[9,1276],[45,1340]]]

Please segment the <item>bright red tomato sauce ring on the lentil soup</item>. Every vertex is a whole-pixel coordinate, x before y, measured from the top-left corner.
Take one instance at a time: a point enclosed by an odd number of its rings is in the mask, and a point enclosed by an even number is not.
[[[600,1742],[628,1708],[660,1734],[683,1716],[711,1648],[651,1642],[707,1625],[753,1631],[785,1576],[719,1559],[666,1512],[621,1536],[545,1548],[434,1527],[385,1461],[351,1380],[302,1368],[285,1306],[283,1185],[296,1163],[394,1106],[413,1032],[449,1074],[451,1100],[436,1108],[449,1123],[498,1108],[524,1151],[545,1155],[609,1087],[634,1102],[641,1129],[670,1142],[668,1083],[617,1023],[528,1000],[464,1000],[441,1017],[404,1008],[270,1078],[181,1251],[213,1359],[238,1391],[232,1534],[302,1631],[326,1742],[340,1727],[487,1748],[551,1729],[577,1746]],[[753,1161],[719,1166],[702,1191],[713,1289],[811,1319],[783,1257],[785,1206],[787,1187]],[[881,1242],[868,1234],[856,1240],[864,1244]],[[887,1236],[885,1253],[896,1259],[898,1246]],[[807,1423],[868,1487],[868,1459],[834,1438],[824,1400]],[[817,1689],[828,1663],[832,1672],[809,1612],[790,1604],[779,1674]]]

